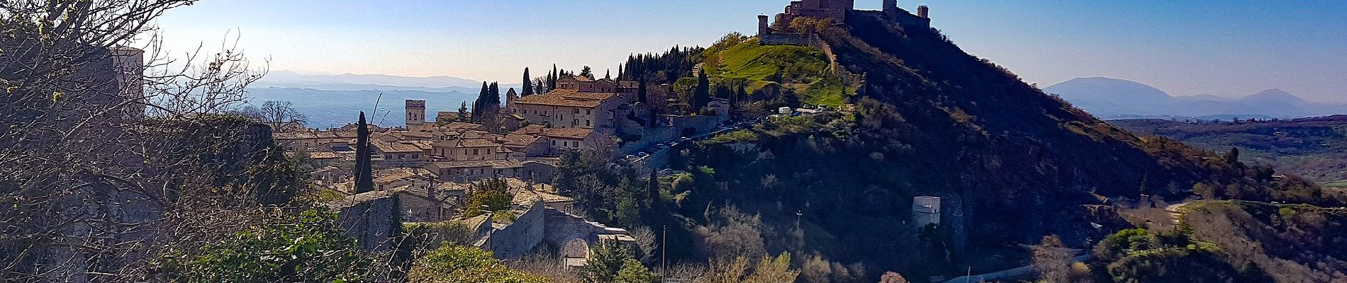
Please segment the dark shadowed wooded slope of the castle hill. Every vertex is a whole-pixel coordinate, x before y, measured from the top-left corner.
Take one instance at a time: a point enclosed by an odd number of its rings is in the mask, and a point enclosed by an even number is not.
[[[1138,196],[1180,201],[1193,188],[1263,201],[1324,196],[1266,168],[1110,126],[931,28],[857,11],[819,38],[841,67],[866,74],[850,99],[855,111],[725,133],[672,157],[687,173],[626,192],[652,196],[638,217],[667,225],[671,247],[694,247],[672,259],[789,252],[804,263],[803,282],[991,272],[1028,264],[1016,244],[1045,235],[1079,248],[1131,228],[1117,209]],[[757,64],[781,63],[765,54],[796,51],[718,44],[706,52],[718,63],[706,70],[758,79]],[[942,197],[940,225],[909,224],[913,196]]]

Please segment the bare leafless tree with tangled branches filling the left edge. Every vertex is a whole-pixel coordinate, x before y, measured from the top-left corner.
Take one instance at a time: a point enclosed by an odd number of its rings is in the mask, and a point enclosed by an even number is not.
[[[191,3],[0,1],[0,280],[147,280],[294,196],[259,180],[271,131],[225,115],[265,67],[237,39],[162,48],[152,23]]]

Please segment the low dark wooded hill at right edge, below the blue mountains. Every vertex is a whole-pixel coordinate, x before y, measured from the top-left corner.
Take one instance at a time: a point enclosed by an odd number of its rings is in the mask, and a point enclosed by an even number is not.
[[[1212,152],[1239,148],[1245,162],[1270,165],[1316,182],[1347,180],[1347,115],[1266,122],[1118,119],[1109,123]]]

